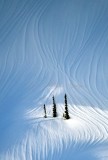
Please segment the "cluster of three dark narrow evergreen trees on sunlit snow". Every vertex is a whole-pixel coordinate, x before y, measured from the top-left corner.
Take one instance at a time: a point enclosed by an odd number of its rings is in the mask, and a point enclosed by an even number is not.
[[[57,107],[56,107],[56,102],[55,102],[55,98],[54,96],[52,97],[52,100],[53,100],[53,117],[57,117]],[[67,95],[65,94],[64,96],[64,103],[65,103],[65,111],[63,113],[63,117],[65,119],[69,119],[70,116],[69,116],[69,111],[68,111],[68,104],[67,104]],[[46,106],[44,104],[44,117],[47,118],[47,113],[46,113]]]

